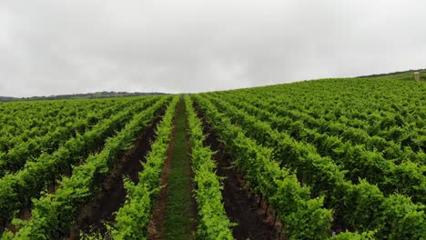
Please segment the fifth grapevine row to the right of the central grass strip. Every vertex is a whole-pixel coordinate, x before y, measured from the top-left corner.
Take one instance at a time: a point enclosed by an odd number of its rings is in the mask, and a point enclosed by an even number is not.
[[[247,96],[241,96],[239,98],[247,99]],[[279,103],[272,104],[270,101],[260,102],[257,100],[249,100],[249,102],[259,108],[268,109],[269,113],[279,115],[278,117],[275,115],[272,116],[272,118],[275,119],[279,118],[279,122],[297,122],[298,124],[304,124],[311,129],[317,129],[320,134],[340,137],[342,140],[346,140],[352,145],[363,145],[367,150],[379,151],[382,153],[383,157],[395,161],[395,163],[401,163],[402,160],[406,161],[406,159],[410,159],[412,162],[419,165],[426,164],[426,154],[424,150],[422,151],[422,149],[426,149],[426,136],[423,135],[423,137],[419,136],[417,138],[406,136],[406,133],[413,132],[411,130],[404,131],[401,127],[392,127],[389,131],[381,131],[381,133],[375,133],[376,135],[370,136],[360,125],[356,127],[342,125],[335,119],[327,119],[324,117],[316,118],[302,112],[302,110],[290,110]],[[382,125],[383,122],[386,122],[385,117],[380,116],[376,122],[380,122],[380,128],[386,127]],[[369,125],[373,124],[370,123]],[[279,125],[277,127],[279,127]],[[421,127],[418,129],[421,129]],[[374,132],[377,131],[375,130]],[[389,137],[384,138],[386,135]],[[398,140],[401,137],[405,140]],[[400,141],[401,143],[397,144],[394,140],[389,140],[389,138],[396,139],[395,141]],[[414,152],[413,149],[416,152]]]

